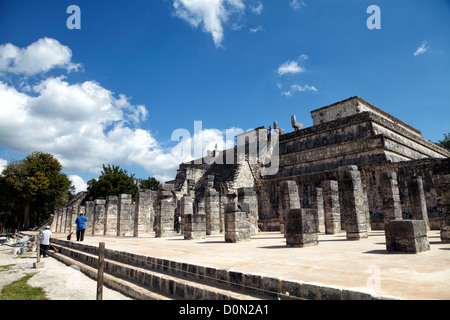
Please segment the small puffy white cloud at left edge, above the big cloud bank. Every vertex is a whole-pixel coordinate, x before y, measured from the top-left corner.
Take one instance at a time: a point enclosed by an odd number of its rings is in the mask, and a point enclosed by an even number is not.
[[[55,39],[42,38],[26,48],[11,43],[0,45],[0,71],[34,75],[53,68],[78,70],[80,64],[71,62],[72,51]]]

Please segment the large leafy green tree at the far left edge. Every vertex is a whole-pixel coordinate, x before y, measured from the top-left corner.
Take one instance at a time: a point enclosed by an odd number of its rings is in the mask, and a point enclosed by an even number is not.
[[[11,216],[22,211],[25,230],[30,228],[31,217],[36,225],[47,220],[64,205],[71,188],[70,180],[61,170],[59,161],[49,153],[34,152],[24,160],[12,161],[1,178],[1,188],[8,198],[2,201],[0,212]]]

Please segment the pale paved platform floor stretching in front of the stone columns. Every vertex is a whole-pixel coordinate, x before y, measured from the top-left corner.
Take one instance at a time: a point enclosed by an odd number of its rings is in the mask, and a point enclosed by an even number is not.
[[[65,239],[67,234],[54,234]],[[428,233],[431,250],[388,253],[384,231],[349,241],[345,233],[319,235],[319,246],[287,248],[279,232],[262,232],[250,242],[226,243],[223,235],[204,240],[87,235],[85,244],[219,269],[348,288],[401,299],[450,299],[450,243]],[[72,241],[75,241],[72,236]]]

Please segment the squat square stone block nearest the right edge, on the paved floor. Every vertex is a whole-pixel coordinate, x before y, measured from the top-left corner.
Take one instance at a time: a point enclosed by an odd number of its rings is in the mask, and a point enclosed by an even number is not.
[[[423,220],[391,220],[385,225],[386,249],[419,253],[430,250],[427,225]]]

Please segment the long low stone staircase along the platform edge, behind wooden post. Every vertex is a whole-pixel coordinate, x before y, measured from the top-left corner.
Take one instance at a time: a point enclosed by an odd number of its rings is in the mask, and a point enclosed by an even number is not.
[[[97,278],[98,247],[52,239],[49,254]],[[139,300],[273,300],[269,279],[229,270],[105,250],[104,285]],[[289,297],[294,298],[294,297]]]

